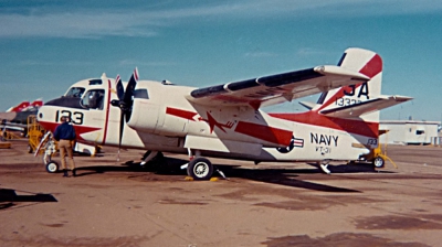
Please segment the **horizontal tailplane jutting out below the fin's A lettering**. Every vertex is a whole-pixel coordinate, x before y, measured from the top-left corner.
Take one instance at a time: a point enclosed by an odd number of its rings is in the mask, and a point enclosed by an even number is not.
[[[326,115],[328,117],[357,118],[364,114],[369,114],[375,110],[391,107],[411,99],[413,98],[398,95],[379,96],[377,98],[372,98],[360,104],[343,106],[329,110],[320,110],[319,114]]]

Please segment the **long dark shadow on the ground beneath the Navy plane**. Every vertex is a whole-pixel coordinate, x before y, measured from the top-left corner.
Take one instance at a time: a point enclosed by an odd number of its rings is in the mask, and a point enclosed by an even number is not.
[[[164,158],[159,163],[148,163],[140,165],[139,162],[129,161],[123,163],[120,167],[116,165],[91,165],[82,167],[77,169],[77,176],[107,173],[107,172],[152,172],[155,174],[162,175],[187,175],[186,170],[181,170],[180,167],[187,163],[187,160],[176,158]],[[264,183],[272,183],[278,185],[285,185],[291,187],[301,187],[306,190],[322,191],[322,192],[335,192],[335,193],[361,193],[357,190],[332,186],[326,184],[319,184],[308,181],[295,179],[299,174],[318,174],[322,173],[317,169],[248,169],[240,165],[232,164],[217,164],[215,169],[222,171],[227,178],[240,178],[252,181],[259,181]],[[364,164],[343,164],[343,165],[330,165],[330,170],[336,173],[355,173],[355,172],[376,172],[372,165]],[[221,175],[214,171],[213,176]],[[324,174],[326,176],[326,174]]]

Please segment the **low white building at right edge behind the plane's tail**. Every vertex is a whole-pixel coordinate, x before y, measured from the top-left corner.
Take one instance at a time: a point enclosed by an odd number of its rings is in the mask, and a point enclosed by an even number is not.
[[[388,130],[379,137],[380,143],[388,144],[441,144],[440,121],[383,120],[379,130]]]

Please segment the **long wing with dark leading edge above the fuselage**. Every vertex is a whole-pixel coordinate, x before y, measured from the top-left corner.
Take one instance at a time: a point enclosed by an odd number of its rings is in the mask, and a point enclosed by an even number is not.
[[[208,106],[243,105],[257,109],[369,79],[359,72],[340,66],[324,65],[198,88],[192,90],[187,99]]]

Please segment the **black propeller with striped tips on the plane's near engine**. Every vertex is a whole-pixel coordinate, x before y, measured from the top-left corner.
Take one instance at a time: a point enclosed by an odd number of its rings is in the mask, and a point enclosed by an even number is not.
[[[119,75],[117,75],[117,77],[115,79],[118,99],[112,100],[110,104],[120,109],[118,159],[117,159],[118,161],[119,161],[119,150],[122,148],[124,125],[125,125],[125,122],[129,121],[130,116],[131,116],[131,107],[134,105],[133,96],[134,96],[135,87],[137,86],[137,80],[138,80],[138,68],[134,69],[134,73],[131,74],[130,79],[127,83],[126,90],[123,88],[123,83],[122,83],[122,78],[119,77]]]

